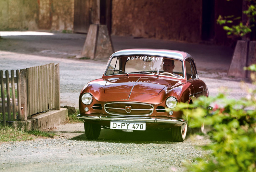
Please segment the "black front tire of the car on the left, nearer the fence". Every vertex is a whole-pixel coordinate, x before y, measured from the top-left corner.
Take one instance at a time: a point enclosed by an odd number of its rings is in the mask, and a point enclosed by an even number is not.
[[[98,139],[101,130],[101,125],[90,124],[84,122],[84,132],[87,139]]]

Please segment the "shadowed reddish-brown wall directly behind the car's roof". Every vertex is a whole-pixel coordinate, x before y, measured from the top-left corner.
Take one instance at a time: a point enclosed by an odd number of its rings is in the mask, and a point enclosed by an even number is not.
[[[112,34],[198,42],[201,0],[113,0]]]

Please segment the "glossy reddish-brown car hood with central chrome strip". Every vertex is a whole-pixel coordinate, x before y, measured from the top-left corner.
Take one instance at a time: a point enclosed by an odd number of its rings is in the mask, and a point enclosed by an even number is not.
[[[105,85],[105,93],[143,93],[158,95],[167,85],[175,85],[179,81],[158,78],[127,77],[110,78]]]

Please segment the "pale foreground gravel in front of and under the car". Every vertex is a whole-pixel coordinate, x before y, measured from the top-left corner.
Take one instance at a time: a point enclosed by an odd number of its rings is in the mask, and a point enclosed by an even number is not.
[[[184,171],[185,160],[193,162],[207,153],[197,146],[210,143],[201,136],[171,142],[170,131],[131,134],[107,129],[89,141],[83,123],[63,124],[54,131],[59,136],[1,143],[0,171]]]

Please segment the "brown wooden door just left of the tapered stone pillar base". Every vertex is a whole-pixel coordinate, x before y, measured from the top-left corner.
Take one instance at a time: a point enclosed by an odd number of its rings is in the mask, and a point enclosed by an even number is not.
[[[75,0],[74,32],[87,33],[92,24],[92,0]]]

